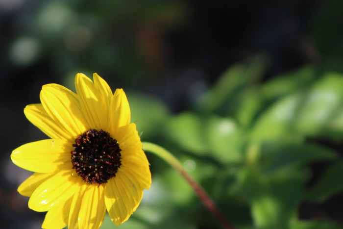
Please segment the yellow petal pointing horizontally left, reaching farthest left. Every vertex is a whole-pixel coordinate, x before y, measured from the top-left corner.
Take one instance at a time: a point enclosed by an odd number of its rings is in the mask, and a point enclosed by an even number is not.
[[[14,164],[30,171],[53,173],[72,167],[72,150],[66,140],[47,139],[18,147],[12,152],[11,159]]]

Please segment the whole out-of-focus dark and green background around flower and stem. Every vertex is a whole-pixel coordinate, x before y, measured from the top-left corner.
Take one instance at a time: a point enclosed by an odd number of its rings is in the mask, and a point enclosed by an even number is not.
[[[343,1],[0,0],[0,228],[45,213],[10,153],[47,138],[25,105],[82,72],[124,88],[142,140],[170,150],[237,229],[343,228]],[[120,229],[216,229],[183,178]],[[103,229],[115,228],[106,216]]]

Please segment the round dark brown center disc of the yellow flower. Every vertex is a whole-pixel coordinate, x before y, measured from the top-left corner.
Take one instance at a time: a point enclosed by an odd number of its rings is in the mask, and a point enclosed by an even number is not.
[[[121,149],[116,139],[102,129],[89,129],[73,144],[73,169],[88,183],[106,183],[122,165]]]

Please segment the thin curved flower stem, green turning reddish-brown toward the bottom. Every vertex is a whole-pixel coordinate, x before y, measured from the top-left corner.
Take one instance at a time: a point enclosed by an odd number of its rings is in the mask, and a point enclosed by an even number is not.
[[[177,160],[176,157],[172,155],[172,153],[168,152],[166,149],[155,145],[150,142],[142,142],[143,149],[150,153],[154,153],[157,156],[164,159],[167,163],[169,163],[172,167],[174,167],[192,186],[196,195],[202,201],[202,203],[213,213],[215,217],[221,222],[222,226],[226,229],[234,229],[234,227],[224,218],[221,212],[218,210],[217,206],[211,200],[211,198],[207,195],[205,190],[196,182],[195,179],[191,177],[189,173],[183,168],[182,164]]]

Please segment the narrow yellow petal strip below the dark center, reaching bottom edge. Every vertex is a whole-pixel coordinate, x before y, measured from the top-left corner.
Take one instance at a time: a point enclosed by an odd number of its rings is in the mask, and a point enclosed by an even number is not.
[[[68,229],[78,229],[78,222],[82,220],[78,217],[78,213],[80,212],[83,195],[88,186],[89,184],[85,182],[79,182],[77,185],[70,208]]]

